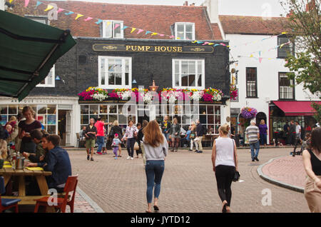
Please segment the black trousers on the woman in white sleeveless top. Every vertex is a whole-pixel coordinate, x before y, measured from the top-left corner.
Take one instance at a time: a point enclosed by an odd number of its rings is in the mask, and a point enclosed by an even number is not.
[[[215,177],[218,185],[218,196],[220,200],[227,201],[230,206],[230,199],[232,198],[232,190],[230,186],[234,178],[235,167],[234,166],[216,166]]]

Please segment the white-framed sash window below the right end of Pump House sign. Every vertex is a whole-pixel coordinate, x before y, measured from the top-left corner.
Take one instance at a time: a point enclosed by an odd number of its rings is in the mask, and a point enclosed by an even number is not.
[[[204,89],[205,61],[192,59],[173,59],[173,87]]]

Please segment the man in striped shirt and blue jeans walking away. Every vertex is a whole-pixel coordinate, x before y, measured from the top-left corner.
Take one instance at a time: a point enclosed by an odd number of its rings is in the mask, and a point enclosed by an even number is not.
[[[258,153],[260,151],[260,130],[258,126],[255,126],[255,121],[251,121],[251,125],[245,129],[245,134],[248,137],[248,142],[250,143],[252,161],[259,161]]]

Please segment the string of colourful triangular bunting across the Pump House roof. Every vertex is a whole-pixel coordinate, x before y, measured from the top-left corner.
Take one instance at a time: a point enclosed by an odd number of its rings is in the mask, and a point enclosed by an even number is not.
[[[14,0],[9,0],[10,3]],[[29,1],[30,0],[24,0],[25,4],[24,4],[24,7],[26,8],[27,6],[29,6]],[[44,11],[50,11],[51,9],[54,9],[54,6],[52,6],[51,4],[46,4],[44,3],[43,1],[36,1],[36,6],[34,6],[34,9],[37,9],[38,6],[41,6],[41,5],[44,5],[46,6],[46,9],[44,9]],[[86,16],[86,15],[83,15],[83,14],[80,14],[80,13],[77,13],[77,12],[73,12],[73,11],[70,11],[68,9],[62,9],[62,8],[58,8],[57,10],[57,14],[58,13],[61,13],[62,11],[66,11],[65,12],[65,15],[66,16],[69,16],[69,15],[76,15],[75,17],[75,21],[78,20],[79,18],[81,17],[85,17],[85,19],[83,19],[83,21],[92,21],[92,20],[95,20],[95,24],[101,24],[101,22],[103,22],[104,20],[103,19],[98,19],[98,18],[94,18],[94,17],[91,17],[91,16]],[[109,26],[111,24],[111,21],[107,21],[107,26]],[[120,26],[120,24],[116,24],[114,27],[113,27],[113,30],[117,29],[118,27]],[[137,32],[136,34],[141,34],[143,31],[145,31],[145,35],[148,35],[148,34],[151,34],[151,36],[166,36],[168,37],[169,39],[180,39],[180,37],[175,37],[173,35],[166,35],[166,34],[160,34],[158,32],[154,32],[154,31],[146,31],[145,29],[138,29],[138,28],[134,28],[134,27],[131,27],[131,26],[125,26],[123,25],[123,28],[122,30],[125,30],[125,29],[131,29],[131,33],[133,33],[134,31]],[[223,43],[220,43],[220,44],[214,44],[214,43],[210,43],[208,41],[193,41],[193,43],[197,43],[197,44],[203,44],[203,45],[214,45],[214,46],[227,46],[226,44],[223,44]],[[230,47],[230,46],[227,46],[227,47]]]

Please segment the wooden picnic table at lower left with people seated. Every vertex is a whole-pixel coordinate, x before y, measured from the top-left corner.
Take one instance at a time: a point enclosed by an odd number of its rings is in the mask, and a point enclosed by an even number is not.
[[[19,183],[19,196],[2,196],[2,198],[19,198],[21,202],[19,204],[36,204],[34,199],[42,198],[47,196],[48,194],[48,184],[46,181],[46,176],[51,176],[51,172],[49,171],[32,171],[27,168],[24,169],[13,169],[13,168],[1,168],[0,176],[4,176],[4,185],[6,186],[9,183],[9,180],[12,177],[18,178]],[[38,186],[41,192],[39,196],[26,196],[26,176],[35,176],[36,181],[38,182]]]

